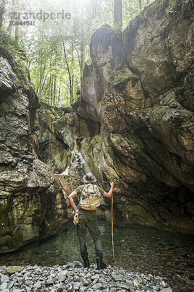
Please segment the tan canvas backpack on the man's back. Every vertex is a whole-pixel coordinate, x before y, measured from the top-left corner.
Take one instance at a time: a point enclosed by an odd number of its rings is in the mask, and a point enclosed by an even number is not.
[[[101,193],[97,185],[88,183],[84,185],[79,205],[84,210],[94,211],[100,206],[100,198]]]

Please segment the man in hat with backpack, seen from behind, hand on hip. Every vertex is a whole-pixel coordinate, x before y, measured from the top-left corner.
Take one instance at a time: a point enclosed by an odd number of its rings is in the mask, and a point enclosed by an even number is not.
[[[106,193],[101,187],[94,184],[96,178],[92,172],[88,172],[83,177],[85,184],[79,185],[69,196],[72,208],[75,210],[76,206],[73,198],[79,196],[79,221],[77,224],[77,235],[79,237],[80,253],[84,261],[84,268],[89,268],[88,250],[86,246],[86,230],[88,227],[89,233],[93,238],[95,244],[97,269],[106,269],[106,264],[103,262],[103,250],[100,237],[100,229],[96,217],[96,209],[100,206],[100,198],[102,196],[110,198],[114,183],[110,183],[111,188]]]

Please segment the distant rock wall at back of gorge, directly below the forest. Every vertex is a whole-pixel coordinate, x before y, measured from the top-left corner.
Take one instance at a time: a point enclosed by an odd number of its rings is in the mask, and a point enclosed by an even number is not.
[[[41,103],[31,117],[37,156],[44,163],[53,163],[56,173],[63,172],[70,163],[74,146],[75,114]]]

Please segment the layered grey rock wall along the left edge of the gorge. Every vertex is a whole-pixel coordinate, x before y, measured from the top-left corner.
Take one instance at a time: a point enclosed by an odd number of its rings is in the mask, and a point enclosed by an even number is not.
[[[48,235],[66,222],[62,185],[32,146],[29,110],[39,107],[29,81],[1,55],[0,253]]]

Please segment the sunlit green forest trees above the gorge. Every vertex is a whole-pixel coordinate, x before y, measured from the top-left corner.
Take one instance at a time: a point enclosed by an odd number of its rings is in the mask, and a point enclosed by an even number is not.
[[[152,0],[151,0],[152,1]],[[146,0],[141,0],[142,8]],[[83,5],[83,9],[81,9]],[[18,10],[17,10],[17,9]],[[85,60],[89,57],[90,37],[98,28],[107,23],[114,30],[112,37],[121,38],[121,30],[114,24],[114,1],[112,0],[18,0],[6,1],[6,12],[32,11],[71,13],[71,19],[35,20],[35,26],[19,25],[19,40],[6,38],[0,41],[0,50],[10,55],[13,62],[17,61],[16,70],[22,76],[28,76],[29,69],[35,91],[40,101],[49,105],[61,107],[80,104],[80,97],[76,95],[81,84],[80,72],[80,44],[81,44],[81,10],[83,10],[83,39]],[[123,0],[123,28],[130,19],[140,13],[139,0]],[[3,28],[9,24],[8,13],[3,17]],[[15,26],[12,27],[12,37]],[[22,41],[23,40],[23,41]],[[18,46],[19,43],[19,46]],[[66,57],[64,54],[64,46]],[[21,49],[22,48],[22,49]],[[24,49],[25,48],[25,49]],[[27,53],[24,53],[27,52]],[[70,96],[70,75],[72,94]],[[73,77],[72,77],[73,76]],[[126,76],[125,76],[126,77]],[[119,77],[118,77],[119,78]],[[72,80],[73,79],[73,80]]]

